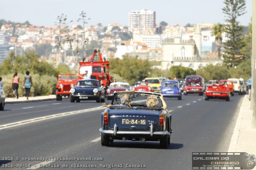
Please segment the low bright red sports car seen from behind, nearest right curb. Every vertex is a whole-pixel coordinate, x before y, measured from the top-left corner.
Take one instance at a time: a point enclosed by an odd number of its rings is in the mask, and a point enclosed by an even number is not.
[[[205,91],[205,97],[204,100],[209,99],[222,99],[229,101],[230,92],[228,90],[228,87],[224,85],[209,85],[208,88]]]

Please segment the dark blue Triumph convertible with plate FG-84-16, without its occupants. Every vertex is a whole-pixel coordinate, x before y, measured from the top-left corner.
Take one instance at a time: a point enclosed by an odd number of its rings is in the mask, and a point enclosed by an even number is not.
[[[120,105],[122,94],[131,96],[130,106]],[[107,108],[101,114],[101,145],[108,146],[114,140],[160,141],[160,147],[166,148],[170,144],[172,116],[163,109],[160,95],[155,92],[115,92],[111,106],[102,104]],[[148,96],[158,99],[156,107],[147,107]]]

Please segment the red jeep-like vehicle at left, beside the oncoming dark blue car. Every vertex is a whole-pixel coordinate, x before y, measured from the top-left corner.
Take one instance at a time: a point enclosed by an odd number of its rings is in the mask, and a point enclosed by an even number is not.
[[[59,74],[56,85],[56,100],[62,100],[62,97],[70,95],[70,89],[76,84],[78,76],[76,74]]]

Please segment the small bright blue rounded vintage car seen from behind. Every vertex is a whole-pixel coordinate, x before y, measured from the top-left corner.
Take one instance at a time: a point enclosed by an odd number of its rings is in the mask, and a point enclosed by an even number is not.
[[[160,93],[163,94],[164,97],[174,97],[181,100],[180,84],[177,80],[164,80],[161,84]]]

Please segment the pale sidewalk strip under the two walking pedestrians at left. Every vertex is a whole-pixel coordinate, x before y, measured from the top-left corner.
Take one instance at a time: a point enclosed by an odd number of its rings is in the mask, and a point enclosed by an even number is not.
[[[56,95],[49,96],[36,96],[36,97],[19,97],[19,99],[5,98],[5,104],[14,104],[14,103],[29,103],[29,102],[38,102],[38,101],[47,101],[47,100],[56,100]]]

